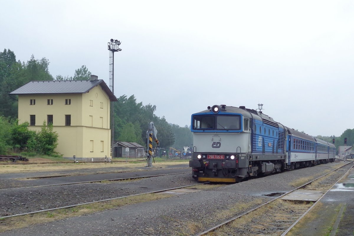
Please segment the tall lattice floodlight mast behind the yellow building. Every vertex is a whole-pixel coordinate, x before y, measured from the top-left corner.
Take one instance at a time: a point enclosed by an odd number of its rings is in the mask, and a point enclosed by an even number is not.
[[[119,45],[121,44],[120,41],[110,39],[110,42],[108,42],[108,50],[109,50],[109,89],[112,91],[114,95],[114,52],[120,52],[122,51],[121,48],[119,48]],[[110,104],[110,115],[111,115],[111,152],[112,152],[112,158],[114,157],[114,102],[111,102]]]

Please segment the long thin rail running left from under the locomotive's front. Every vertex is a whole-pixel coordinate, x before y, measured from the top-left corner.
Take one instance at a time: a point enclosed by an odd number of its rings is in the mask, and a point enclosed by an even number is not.
[[[21,214],[0,216],[0,219],[4,220],[4,219],[14,218],[14,217],[18,217],[18,216],[33,215],[36,213],[55,211],[55,210],[59,210],[59,209],[74,208],[74,207],[78,207],[78,206],[89,205],[92,203],[107,202],[107,201],[117,200],[117,199],[121,199],[121,198],[127,198],[127,197],[133,197],[133,196],[139,196],[139,195],[145,195],[145,194],[155,194],[155,193],[159,193],[159,192],[166,192],[166,191],[171,191],[171,190],[175,190],[175,189],[182,189],[182,188],[187,188],[187,187],[201,185],[201,184],[207,184],[207,183],[210,183],[210,182],[191,184],[191,185],[179,186],[179,187],[169,188],[169,189],[161,189],[161,190],[156,190],[156,191],[143,192],[143,193],[139,193],[139,194],[133,194],[133,195],[127,195],[127,196],[121,196],[121,197],[113,197],[113,198],[108,198],[108,199],[104,199],[104,200],[85,202],[85,203],[63,206],[63,207],[56,207],[56,208],[51,208],[51,209],[42,209],[40,211],[33,211],[33,212],[26,212],[26,213],[21,213]]]

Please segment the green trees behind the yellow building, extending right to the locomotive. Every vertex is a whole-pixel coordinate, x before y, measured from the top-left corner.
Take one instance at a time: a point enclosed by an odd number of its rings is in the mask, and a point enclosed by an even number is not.
[[[49,73],[49,63],[48,59],[36,59],[34,55],[27,62],[16,61],[15,53],[10,49],[4,49],[3,52],[0,52],[0,143],[4,144],[0,148],[0,154],[28,148],[28,146],[18,148],[19,144],[10,136],[6,139],[6,135],[2,135],[8,133],[11,127],[16,126],[18,115],[17,96],[10,97],[8,93],[33,80],[90,79],[91,72],[85,65],[75,70],[73,76],[57,75],[53,77]],[[156,116],[154,114],[155,110],[155,105],[143,105],[142,102],[136,101],[134,95],[130,97],[126,95],[120,96],[118,102],[114,102],[113,105],[115,117],[114,140],[136,142],[145,146],[146,131],[149,123],[153,121],[158,130],[157,136],[161,148],[168,149],[172,146],[176,149],[182,149],[183,146],[190,146],[192,144],[192,133],[188,127],[179,127],[178,125],[168,123],[164,116]],[[53,134],[55,135],[55,132]]]

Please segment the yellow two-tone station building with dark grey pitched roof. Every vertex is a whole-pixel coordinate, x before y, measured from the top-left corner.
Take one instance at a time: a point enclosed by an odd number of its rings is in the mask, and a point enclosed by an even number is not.
[[[39,131],[43,122],[59,134],[55,151],[76,160],[110,159],[110,102],[117,98],[103,80],[30,81],[18,95],[18,122]],[[97,159],[98,158],[98,159]]]

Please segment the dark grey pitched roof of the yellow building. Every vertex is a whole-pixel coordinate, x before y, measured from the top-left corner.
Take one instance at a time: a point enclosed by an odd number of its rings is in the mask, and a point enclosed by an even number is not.
[[[9,94],[87,93],[97,85],[102,87],[112,102],[117,101],[117,98],[103,80],[30,81]]]

